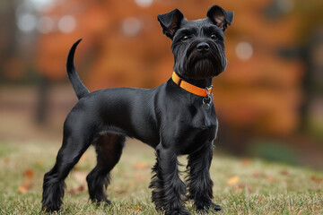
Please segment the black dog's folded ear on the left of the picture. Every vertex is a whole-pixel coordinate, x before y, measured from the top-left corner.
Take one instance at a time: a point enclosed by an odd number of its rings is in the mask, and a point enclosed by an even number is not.
[[[163,13],[157,16],[157,20],[161,23],[162,33],[172,39],[176,30],[179,29],[180,22],[183,20],[184,15],[175,9],[170,13]]]

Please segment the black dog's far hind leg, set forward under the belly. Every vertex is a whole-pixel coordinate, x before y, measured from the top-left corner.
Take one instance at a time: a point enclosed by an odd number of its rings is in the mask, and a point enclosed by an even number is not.
[[[118,163],[125,144],[125,136],[115,133],[100,136],[94,143],[97,165],[86,177],[92,202],[110,204],[105,193],[109,185],[109,172]]]

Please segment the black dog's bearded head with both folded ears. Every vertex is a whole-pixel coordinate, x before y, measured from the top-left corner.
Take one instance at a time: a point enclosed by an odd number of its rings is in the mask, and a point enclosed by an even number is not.
[[[222,73],[224,31],[233,20],[233,12],[218,5],[209,8],[206,18],[188,21],[179,9],[158,15],[162,32],[172,40],[174,71],[191,79],[206,79]]]

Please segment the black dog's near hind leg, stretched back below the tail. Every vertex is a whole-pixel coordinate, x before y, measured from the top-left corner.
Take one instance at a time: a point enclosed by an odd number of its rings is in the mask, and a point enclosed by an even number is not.
[[[58,211],[64,196],[65,177],[92,142],[88,125],[68,125],[65,122],[63,144],[54,167],[44,176],[42,211]]]

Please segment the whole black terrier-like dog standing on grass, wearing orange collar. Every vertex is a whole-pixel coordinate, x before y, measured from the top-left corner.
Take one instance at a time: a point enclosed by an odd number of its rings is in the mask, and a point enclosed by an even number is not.
[[[212,79],[222,73],[227,61],[223,32],[233,13],[211,7],[205,19],[188,21],[178,9],[158,15],[162,32],[172,39],[175,64],[172,78],[151,89],[106,89],[92,93],[74,69],[71,48],[66,69],[79,102],[64,124],[63,145],[57,161],[44,176],[42,209],[58,211],[64,195],[65,177],[92,144],[97,165],[86,177],[93,202],[107,202],[109,172],[118,163],[126,136],[156,150],[152,200],[166,214],[190,214],[184,200],[197,210],[221,207],[214,204],[209,168],[217,119],[212,102]],[[179,155],[188,154],[188,195],[179,178]]]

